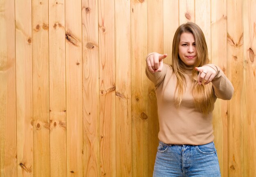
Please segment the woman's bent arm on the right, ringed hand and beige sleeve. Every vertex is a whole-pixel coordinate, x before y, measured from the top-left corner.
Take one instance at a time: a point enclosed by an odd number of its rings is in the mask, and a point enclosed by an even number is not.
[[[230,100],[232,98],[234,87],[220,67],[214,64],[207,64],[195,68],[195,70],[199,71],[198,83],[202,84],[203,80],[205,81],[204,84],[211,82],[217,98],[222,100]]]

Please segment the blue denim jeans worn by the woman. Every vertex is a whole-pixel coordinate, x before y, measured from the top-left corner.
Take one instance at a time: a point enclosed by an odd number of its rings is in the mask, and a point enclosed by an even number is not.
[[[204,145],[177,145],[159,142],[153,177],[220,177],[213,142]]]

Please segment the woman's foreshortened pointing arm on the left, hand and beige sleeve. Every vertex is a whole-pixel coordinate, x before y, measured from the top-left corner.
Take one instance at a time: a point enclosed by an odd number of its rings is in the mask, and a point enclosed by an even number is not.
[[[166,74],[167,66],[163,62],[163,59],[166,57],[167,54],[162,55],[157,52],[149,53],[146,57],[146,75],[155,87],[162,82]]]

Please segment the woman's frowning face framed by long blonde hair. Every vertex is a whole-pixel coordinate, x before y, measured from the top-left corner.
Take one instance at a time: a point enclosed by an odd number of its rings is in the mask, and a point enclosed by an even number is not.
[[[179,56],[180,59],[187,66],[193,66],[196,59],[197,53],[195,48],[195,37],[192,33],[184,32],[180,35],[179,44]]]

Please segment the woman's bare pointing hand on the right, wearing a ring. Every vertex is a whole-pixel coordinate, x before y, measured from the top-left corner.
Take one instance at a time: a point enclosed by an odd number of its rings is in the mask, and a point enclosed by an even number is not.
[[[211,66],[195,67],[195,70],[199,72],[198,74],[198,84],[201,85],[204,80],[204,85],[210,83],[216,76],[216,70],[211,68]]]

